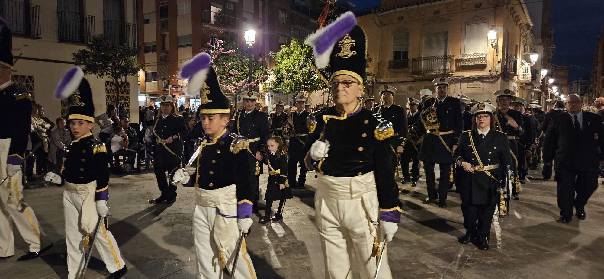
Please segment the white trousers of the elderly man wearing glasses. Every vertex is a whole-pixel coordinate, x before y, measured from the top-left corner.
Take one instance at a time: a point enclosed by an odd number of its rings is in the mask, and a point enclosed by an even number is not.
[[[327,175],[318,175],[318,178],[316,226],[325,256],[325,277],[353,278],[349,252],[354,251],[361,278],[373,278],[377,265],[377,257],[373,255],[374,237],[379,236],[380,247],[384,242],[371,222],[379,222],[373,172],[347,178]],[[392,278],[387,252],[384,251],[377,278]]]

